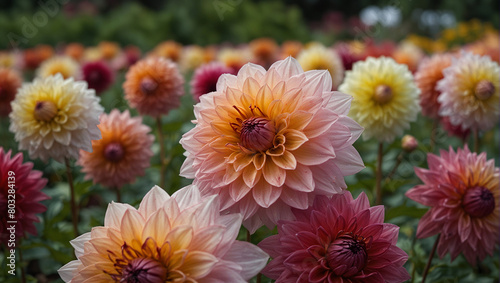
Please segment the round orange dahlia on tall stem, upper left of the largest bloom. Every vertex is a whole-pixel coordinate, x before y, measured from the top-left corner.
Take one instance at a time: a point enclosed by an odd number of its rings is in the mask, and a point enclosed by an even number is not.
[[[141,115],[159,117],[179,107],[184,79],[172,61],[147,58],[128,70],[123,89],[130,107]]]

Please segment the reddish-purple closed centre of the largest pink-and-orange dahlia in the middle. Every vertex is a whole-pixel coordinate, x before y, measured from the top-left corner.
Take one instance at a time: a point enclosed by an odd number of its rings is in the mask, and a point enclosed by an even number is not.
[[[262,117],[249,118],[241,124],[241,145],[254,151],[266,151],[272,147],[275,134],[274,122]]]

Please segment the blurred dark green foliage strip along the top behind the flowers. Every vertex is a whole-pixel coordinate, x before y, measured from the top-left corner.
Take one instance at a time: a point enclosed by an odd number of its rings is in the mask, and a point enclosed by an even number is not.
[[[47,14],[50,5],[55,12]],[[471,19],[488,19],[498,28],[498,10],[495,0],[3,0],[0,48],[103,40],[150,50],[166,39],[206,46],[258,37],[325,44],[360,37],[401,40],[409,33],[435,38],[443,28]],[[36,32],[23,35],[30,25]]]

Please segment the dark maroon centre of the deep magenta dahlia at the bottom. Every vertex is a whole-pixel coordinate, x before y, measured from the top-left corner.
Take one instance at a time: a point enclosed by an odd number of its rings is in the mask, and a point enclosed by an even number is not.
[[[366,245],[362,237],[343,235],[333,241],[326,251],[329,267],[337,276],[351,277],[366,265]]]

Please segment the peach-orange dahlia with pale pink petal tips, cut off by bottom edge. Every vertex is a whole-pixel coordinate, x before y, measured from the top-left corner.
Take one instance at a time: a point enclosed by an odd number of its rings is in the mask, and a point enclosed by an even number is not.
[[[241,215],[220,215],[216,197],[194,186],[171,197],[155,186],[139,209],[112,202],[103,227],[73,241],[77,260],[65,282],[247,282],[267,263],[257,246],[236,241]]]

